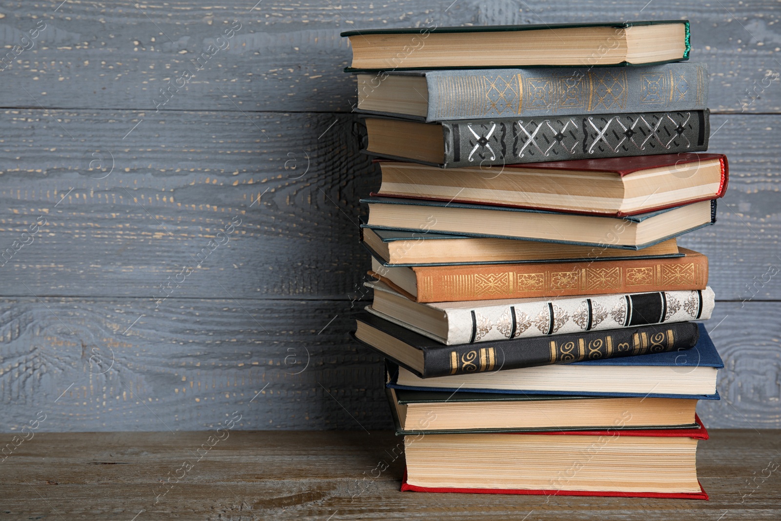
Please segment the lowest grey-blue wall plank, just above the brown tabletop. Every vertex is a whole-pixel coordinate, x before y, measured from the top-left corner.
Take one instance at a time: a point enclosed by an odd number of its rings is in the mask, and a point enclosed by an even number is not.
[[[235,410],[241,429],[391,426],[380,357],[348,337],[350,302],[42,300],[0,301],[0,431],[39,410],[46,431],[210,429]],[[724,399],[701,402],[707,426],[781,427],[779,312],[716,306]]]

